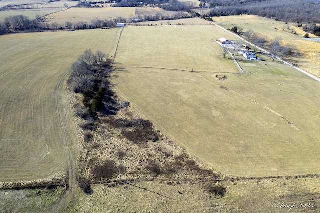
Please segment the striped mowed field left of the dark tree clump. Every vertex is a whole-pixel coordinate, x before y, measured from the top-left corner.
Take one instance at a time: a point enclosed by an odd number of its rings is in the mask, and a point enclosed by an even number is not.
[[[64,88],[68,71],[86,49],[113,54],[119,34],[114,28],[0,37],[0,181],[66,171],[65,149],[78,131]]]

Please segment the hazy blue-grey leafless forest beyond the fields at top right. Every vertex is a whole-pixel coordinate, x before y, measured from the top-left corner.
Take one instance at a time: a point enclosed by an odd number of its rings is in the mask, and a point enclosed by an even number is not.
[[[208,16],[254,14],[281,21],[320,23],[320,0],[201,0]]]

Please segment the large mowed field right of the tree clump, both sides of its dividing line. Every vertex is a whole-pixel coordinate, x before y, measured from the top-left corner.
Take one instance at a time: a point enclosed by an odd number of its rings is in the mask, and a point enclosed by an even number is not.
[[[124,28],[115,58],[117,90],[223,174],[319,173],[320,84],[271,62],[265,70],[273,74],[234,74],[237,67],[222,57],[215,37],[233,39],[212,25]],[[285,75],[276,74],[278,66]]]

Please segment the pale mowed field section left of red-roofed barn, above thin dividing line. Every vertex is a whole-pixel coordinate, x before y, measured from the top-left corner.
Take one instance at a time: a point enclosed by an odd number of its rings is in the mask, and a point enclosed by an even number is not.
[[[115,66],[236,72],[233,61],[224,60],[219,45],[213,41],[225,34],[213,25],[124,28]]]

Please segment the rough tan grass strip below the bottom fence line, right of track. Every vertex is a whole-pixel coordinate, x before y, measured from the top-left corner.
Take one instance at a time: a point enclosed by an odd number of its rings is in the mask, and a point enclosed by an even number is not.
[[[222,198],[212,197],[196,182],[141,181],[112,188],[94,185],[89,196],[76,193],[77,202],[68,212],[318,212],[319,183],[319,178],[226,181]],[[283,202],[296,203],[296,207],[272,206]],[[313,203],[314,207],[299,208],[299,203]]]

